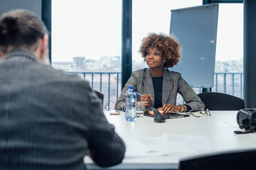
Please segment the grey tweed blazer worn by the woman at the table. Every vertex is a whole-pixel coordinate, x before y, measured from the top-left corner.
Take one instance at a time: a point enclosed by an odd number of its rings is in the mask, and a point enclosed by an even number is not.
[[[116,101],[115,109],[125,110],[125,93],[129,85],[134,86],[134,90],[140,94],[152,95],[153,100],[151,100],[151,106],[154,106],[155,94],[150,69],[141,69],[134,71],[131,74],[131,77],[125,84],[125,87],[122,89],[122,93]],[[204,108],[204,103],[201,101],[198,95],[195,94],[194,90],[189,86],[189,84],[182,79],[180,73],[164,69],[164,77],[162,82],[162,105],[175,105],[177,93],[182,95],[184,101],[186,101],[186,104],[191,107],[191,111]]]

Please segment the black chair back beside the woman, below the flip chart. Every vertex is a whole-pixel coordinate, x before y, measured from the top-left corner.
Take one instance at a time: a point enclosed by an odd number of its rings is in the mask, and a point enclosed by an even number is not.
[[[209,110],[240,110],[244,109],[244,100],[225,93],[200,93],[198,97]]]

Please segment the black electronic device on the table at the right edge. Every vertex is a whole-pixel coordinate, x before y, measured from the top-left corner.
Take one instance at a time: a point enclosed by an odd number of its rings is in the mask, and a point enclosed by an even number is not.
[[[246,132],[235,131],[236,134],[255,132],[256,130],[256,108],[241,109],[237,112],[237,123]]]

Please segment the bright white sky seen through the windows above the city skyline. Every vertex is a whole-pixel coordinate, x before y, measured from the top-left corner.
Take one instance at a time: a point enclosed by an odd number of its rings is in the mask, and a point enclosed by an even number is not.
[[[169,34],[171,10],[202,5],[202,0],[134,0],[133,60],[149,32]],[[121,56],[121,0],[52,1],[52,61],[71,62],[74,56],[99,60]],[[216,60],[243,58],[243,4],[220,4]]]

